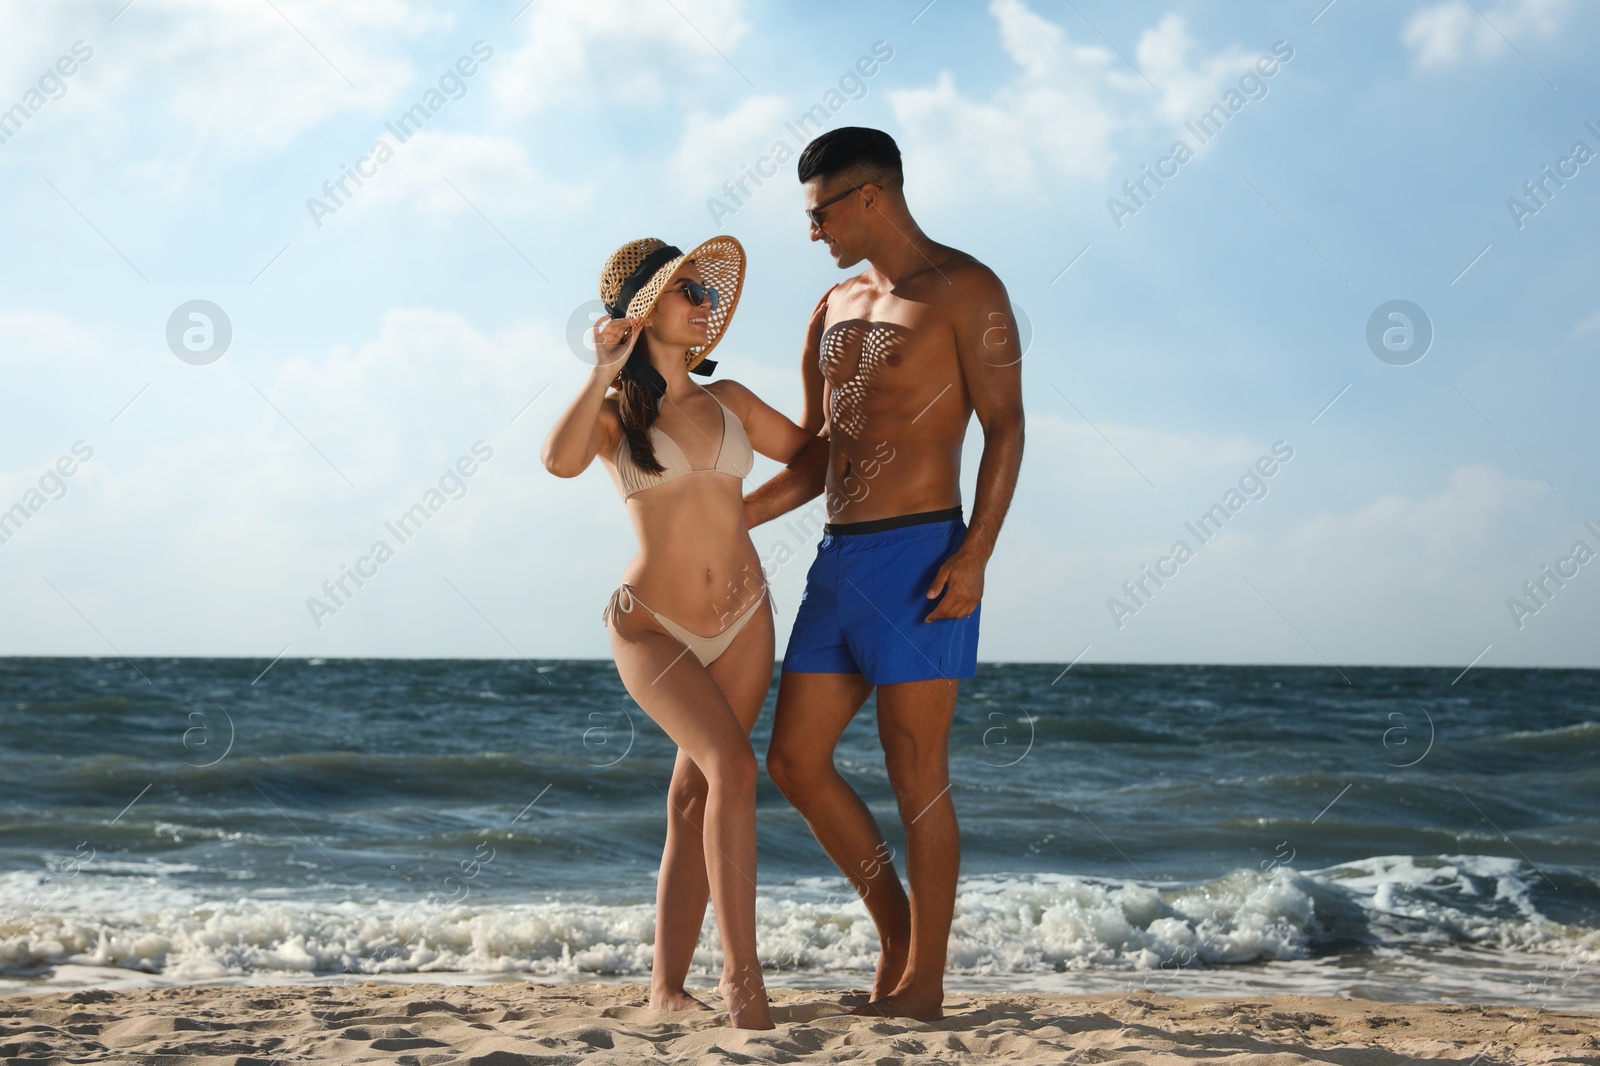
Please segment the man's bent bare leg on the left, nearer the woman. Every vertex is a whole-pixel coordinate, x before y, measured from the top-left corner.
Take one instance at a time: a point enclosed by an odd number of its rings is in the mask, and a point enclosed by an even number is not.
[[[910,901],[888,858],[883,831],[834,767],[834,747],[870,691],[859,674],[784,671],[766,773],[866,903],[878,928],[872,999],[880,1000],[901,984],[910,956]]]

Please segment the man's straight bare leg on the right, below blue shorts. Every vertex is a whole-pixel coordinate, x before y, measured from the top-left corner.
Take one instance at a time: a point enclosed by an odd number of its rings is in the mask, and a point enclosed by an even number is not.
[[[955,680],[878,685],[878,739],[906,826],[910,954],[899,983],[858,1015],[944,1016],[944,964],[955,914],[962,839],[950,800],[950,717]]]

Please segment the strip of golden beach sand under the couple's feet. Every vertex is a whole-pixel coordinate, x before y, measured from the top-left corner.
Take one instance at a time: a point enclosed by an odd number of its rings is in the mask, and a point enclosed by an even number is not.
[[[0,999],[0,1063],[1600,1063],[1600,1015],[1274,996],[952,994],[936,1023],[773,989],[778,1028],[645,1008],[638,984],[146,988]],[[702,999],[710,999],[702,996]],[[715,1000],[710,1000],[715,1002]]]

